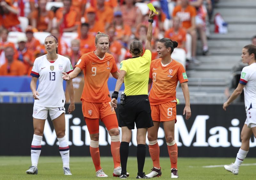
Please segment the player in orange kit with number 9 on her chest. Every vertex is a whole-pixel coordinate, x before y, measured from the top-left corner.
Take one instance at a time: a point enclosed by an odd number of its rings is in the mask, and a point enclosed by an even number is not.
[[[111,153],[114,160],[113,176],[120,176],[120,135],[116,112],[110,106],[108,90],[109,73],[118,78],[119,72],[114,57],[107,53],[109,36],[98,32],[95,37],[96,50],[84,54],[77,62],[72,73],[63,73],[64,80],[75,78],[84,71],[84,91],[82,93],[82,110],[90,133],[90,153],[97,177],[108,177],[100,166],[99,119],[105,124],[111,137]]]

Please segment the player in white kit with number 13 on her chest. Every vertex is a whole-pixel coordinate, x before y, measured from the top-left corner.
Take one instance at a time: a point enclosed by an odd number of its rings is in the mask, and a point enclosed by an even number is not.
[[[69,170],[68,140],[65,137],[64,104],[66,99],[63,90],[62,72],[70,73],[73,68],[67,57],[57,54],[58,39],[55,36],[47,36],[44,40],[44,47],[47,54],[36,58],[30,74],[32,76],[30,88],[35,99],[33,108],[34,136],[31,143],[32,166],[29,167],[26,173],[38,173],[37,163],[41,153],[44,124],[49,111],[59,141],[64,174],[72,175]],[[36,90],[37,79],[39,79],[39,85]],[[72,81],[67,81],[67,91],[70,97],[68,113],[71,113],[75,110]]]

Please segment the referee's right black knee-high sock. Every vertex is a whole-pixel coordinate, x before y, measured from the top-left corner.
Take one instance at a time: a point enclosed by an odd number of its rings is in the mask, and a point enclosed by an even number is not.
[[[138,163],[138,175],[144,177],[143,167],[146,158],[146,145],[138,144],[137,145],[137,163]]]

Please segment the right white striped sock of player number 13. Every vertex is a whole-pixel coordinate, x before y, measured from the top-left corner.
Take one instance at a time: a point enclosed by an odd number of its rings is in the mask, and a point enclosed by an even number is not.
[[[68,146],[68,141],[66,139],[66,136],[63,138],[57,138],[59,141],[59,150],[60,150],[60,155],[62,158],[63,162],[63,168],[66,167],[69,169],[69,146]]]

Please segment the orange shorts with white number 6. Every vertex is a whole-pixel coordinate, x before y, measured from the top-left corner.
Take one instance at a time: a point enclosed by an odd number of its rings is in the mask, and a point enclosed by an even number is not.
[[[166,102],[158,105],[150,105],[153,121],[172,121],[176,123],[176,102]]]

